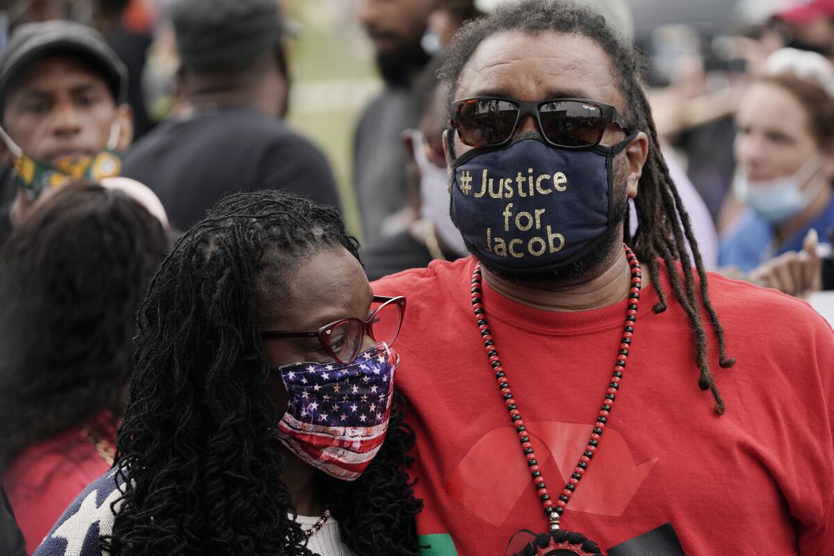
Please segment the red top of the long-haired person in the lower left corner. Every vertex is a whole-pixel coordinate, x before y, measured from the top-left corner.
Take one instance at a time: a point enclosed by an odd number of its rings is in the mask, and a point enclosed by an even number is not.
[[[102,413],[96,418],[96,430],[104,431],[103,439],[113,445],[116,431],[108,425],[111,420],[110,413]],[[30,446],[15,458],[3,475],[3,488],[26,539],[27,553],[38,548],[63,510],[108,468],[110,463],[80,428]]]

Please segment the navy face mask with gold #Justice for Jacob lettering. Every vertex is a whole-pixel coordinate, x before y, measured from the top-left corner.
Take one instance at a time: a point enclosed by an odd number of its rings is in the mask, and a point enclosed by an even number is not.
[[[564,267],[620,223],[612,160],[636,135],[574,150],[521,134],[509,147],[464,153],[451,164],[452,222],[467,248],[496,268],[533,274]]]

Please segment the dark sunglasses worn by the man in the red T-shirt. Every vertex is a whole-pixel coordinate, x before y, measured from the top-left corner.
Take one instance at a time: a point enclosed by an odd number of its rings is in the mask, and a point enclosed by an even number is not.
[[[500,147],[510,142],[525,114],[535,117],[541,136],[561,148],[600,144],[605,126],[616,123],[627,135],[625,121],[610,104],[586,98],[520,101],[512,98],[473,97],[452,103],[451,126],[470,147]]]

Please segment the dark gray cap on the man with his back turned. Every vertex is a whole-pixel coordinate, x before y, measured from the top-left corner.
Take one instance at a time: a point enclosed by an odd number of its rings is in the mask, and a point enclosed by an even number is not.
[[[275,0],[176,0],[170,16],[183,67],[241,68],[288,34]]]

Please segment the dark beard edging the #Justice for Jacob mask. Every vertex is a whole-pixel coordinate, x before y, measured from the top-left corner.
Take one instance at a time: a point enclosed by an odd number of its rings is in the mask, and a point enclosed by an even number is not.
[[[481,266],[493,276],[506,282],[517,283],[535,289],[559,289],[590,282],[605,271],[605,265],[615,256],[615,251],[622,250],[623,226],[628,226],[628,198],[625,194],[625,179],[628,163],[625,155],[613,164],[614,173],[614,222],[620,225],[610,226],[604,233],[588,243],[585,254],[560,268],[542,269],[536,272],[525,270],[517,272],[512,268],[499,268],[486,258],[480,258],[469,245],[470,253],[478,258]]]

